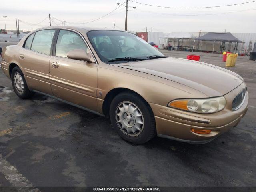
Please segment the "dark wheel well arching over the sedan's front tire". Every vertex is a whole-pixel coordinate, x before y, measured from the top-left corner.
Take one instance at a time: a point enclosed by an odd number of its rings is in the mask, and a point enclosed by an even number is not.
[[[137,92],[135,92],[133,90],[130,90],[127,88],[114,88],[114,89],[110,90],[110,92],[108,92],[108,94],[106,95],[106,97],[104,99],[103,105],[102,105],[102,112],[106,117],[109,117],[109,109],[110,109],[110,104],[111,104],[112,100],[114,99],[114,97],[116,95],[118,95],[121,92],[132,92],[132,93],[139,95],[143,100],[145,100],[140,94],[138,94]]]

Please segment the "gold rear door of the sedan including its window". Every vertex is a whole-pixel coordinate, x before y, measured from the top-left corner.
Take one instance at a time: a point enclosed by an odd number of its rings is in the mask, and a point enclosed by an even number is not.
[[[52,95],[49,62],[56,30],[40,30],[31,34],[20,48],[19,62],[30,90]]]

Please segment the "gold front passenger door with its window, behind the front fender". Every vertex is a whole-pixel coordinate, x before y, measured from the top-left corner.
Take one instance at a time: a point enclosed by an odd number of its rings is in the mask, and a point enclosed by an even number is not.
[[[67,53],[74,49],[88,52],[86,43],[78,33],[60,30],[56,49],[50,58],[52,92],[62,100],[96,111],[98,65],[67,58]]]

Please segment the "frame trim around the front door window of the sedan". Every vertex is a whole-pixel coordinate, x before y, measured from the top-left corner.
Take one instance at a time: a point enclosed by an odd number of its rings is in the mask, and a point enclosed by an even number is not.
[[[94,62],[96,64],[98,64],[97,60],[96,60],[96,57],[94,56],[93,52],[92,52],[92,49],[90,48],[90,46],[88,45],[86,39],[84,38],[84,36],[82,36],[82,34],[80,34],[80,32],[76,31],[76,30],[72,30],[72,29],[67,29],[67,28],[58,28],[58,30],[56,30],[56,36],[53,40],[54,42],[54,45],[53,45],[53,49],[52,49],[52,56],[55,56],[55,57],[59,57],[59,58],[66,58],[66,59],[70,59],[70,58],[67,58],[67,57],[62,57],[62,56],[56,56],[56,44],[57,44],[57,40],[58,40],[58,36],[59,36],[59,33],[60,33],[60,30],[65,30],[65,31],[71,31],[71,32],[74,32],[76,33],[78,36],[80,36],[82,38],[82,40],[84,41],[84,43],[86,44],[87,48],[90,50],[90,53],[92,55],[92,57],[94,58]]]

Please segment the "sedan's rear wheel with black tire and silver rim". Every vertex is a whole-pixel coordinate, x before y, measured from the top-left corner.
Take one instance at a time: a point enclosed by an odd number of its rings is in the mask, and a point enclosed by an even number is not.
[[[12,88],[19,98],[27,99],[34,95],[34,92],[28,89],[24,75],[19,67],[14,67],[11,74]]]

